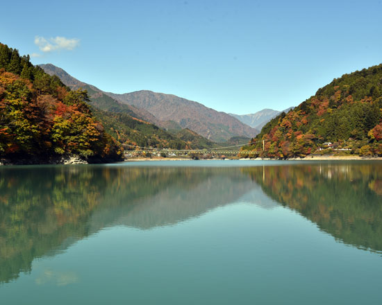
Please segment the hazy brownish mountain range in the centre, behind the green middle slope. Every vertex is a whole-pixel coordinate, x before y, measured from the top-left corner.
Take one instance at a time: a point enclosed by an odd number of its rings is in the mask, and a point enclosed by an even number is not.
[[[126,94],[103,92],[93,85],[77,80],[53,64],[41,64],[40,67],[50,75],[58,76],[72,89],[87,89],[90,100],[101,110],[124,112],[166,129],[188,128],[212,141],[226,141],[231,137],[251,138],[259,132],[225,112],[217,112],[201,103],[172,94],[147,90]]]

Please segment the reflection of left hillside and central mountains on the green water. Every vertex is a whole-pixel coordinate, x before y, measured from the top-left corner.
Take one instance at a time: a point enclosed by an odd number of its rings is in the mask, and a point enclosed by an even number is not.
[[[240,171],[103,166],[3,169],[0,281],[111,225],[172,225],[254,188]]]

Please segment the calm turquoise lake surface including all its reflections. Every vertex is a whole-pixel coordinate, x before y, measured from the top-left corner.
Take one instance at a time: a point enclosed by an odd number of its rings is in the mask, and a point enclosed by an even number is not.
[[[0,304],[382,304],[382,162],[3,166]]]

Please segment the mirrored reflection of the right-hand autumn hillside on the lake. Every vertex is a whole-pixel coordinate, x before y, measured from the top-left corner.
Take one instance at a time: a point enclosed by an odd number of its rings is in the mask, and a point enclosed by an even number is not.
[[[244,168],[276,202],[344,243],[382,251],[382,164]]]

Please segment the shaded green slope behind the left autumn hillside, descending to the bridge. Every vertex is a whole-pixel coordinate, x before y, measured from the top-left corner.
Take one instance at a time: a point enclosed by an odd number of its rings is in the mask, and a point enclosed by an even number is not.
[[[115,101],[101,89],[78,80],[65,70],[53,64],[40,64],[50,76],[60,80],[74,89],[85,89],[90,98],[90,105],[97,119],[105,126],[106,131],[120,143],[155,148],[211,148],[216,144],[190,130],[181,131],[181,126],[174,121],[159,121],[147,110]],[[155,124],[155,125],[154,125]],[[158,124],[163,130],[158,128]],[[175,127],[175,128],[174,128]],[[174,129],[174,130],[173,130]],[[176,130],[175,130],[176,129]],[[187,137],[185,137],[187,134]],[[129,146],[124,146],[128,149]],[[131,149],[133,149],[131,147]]]

